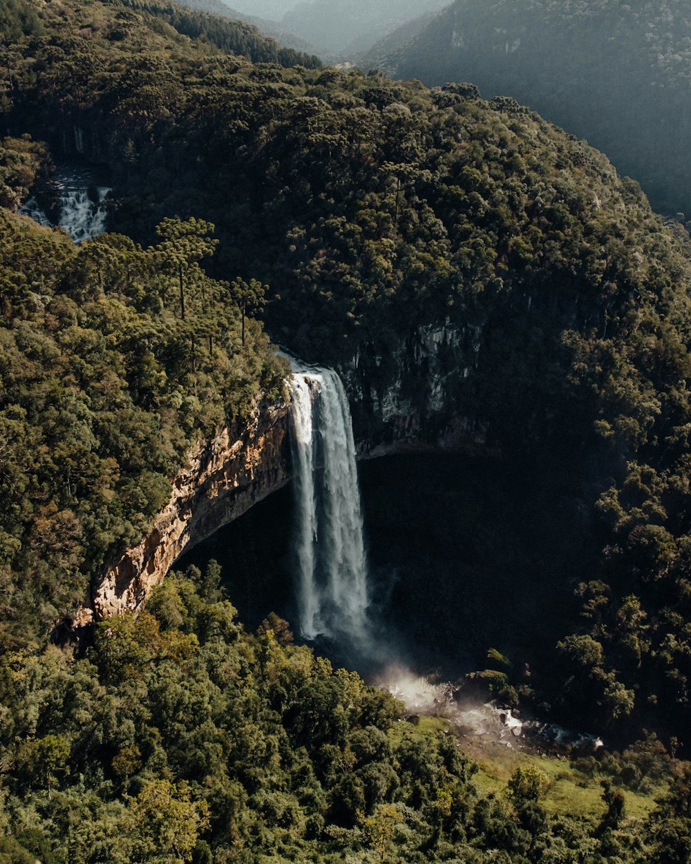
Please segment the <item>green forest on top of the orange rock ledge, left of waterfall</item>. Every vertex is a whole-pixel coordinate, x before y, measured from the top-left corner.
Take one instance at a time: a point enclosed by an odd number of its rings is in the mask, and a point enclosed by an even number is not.
[[[0,166],[13,147],[10,166],[29,144],[5,141]],[[261,327],[197,263],[211,231],[170,219],[147,250],[118,234],[77,248],[0,210],[5,640],[70,613],[168,502],[190,446],[281,391]]]

